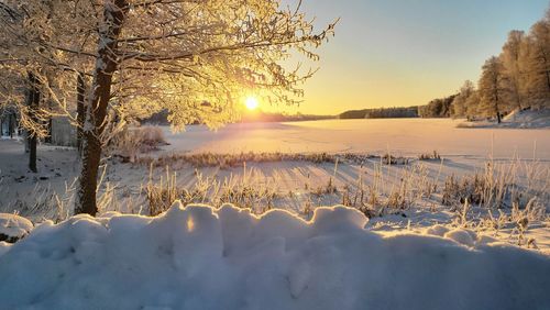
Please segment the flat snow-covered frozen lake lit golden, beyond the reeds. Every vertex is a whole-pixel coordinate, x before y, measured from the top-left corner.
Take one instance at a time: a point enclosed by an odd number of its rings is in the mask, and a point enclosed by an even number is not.
[[[418,156],[437,151],[446,157],[484,159],[536,157],[550,159],[550,130],[460,129],[461,120],[381,119],[323,120],[289,123],[230,124],[218,131],[202,125],[174,134],[165,128],[172,144],[165,152],[391,152]]]

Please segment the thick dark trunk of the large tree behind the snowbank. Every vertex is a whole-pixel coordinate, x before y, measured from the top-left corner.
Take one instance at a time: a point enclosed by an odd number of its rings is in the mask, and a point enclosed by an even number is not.
[[[114,0],[113,3],[108,3],[103,8],[106,30],[99,35],[91,96],[86,107],[86,119],[82,129],[82,168],[75,213],[96,215],[98,211],[96,193],[102,148],[101,135],[106,126],[107,108],[111,97],[112,75],[118,68],[117,40],[128,10],[127,0]]]

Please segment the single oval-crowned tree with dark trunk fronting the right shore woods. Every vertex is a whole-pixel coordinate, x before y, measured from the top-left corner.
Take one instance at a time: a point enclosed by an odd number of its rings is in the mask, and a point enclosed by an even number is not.
[[[503,74],[503,64],[498,57],[488,58],[482,67],[479,81],[480,112],[484,115],[494,115],[501,123],[502,113],[506,109],[508,93],[507,79]]]

